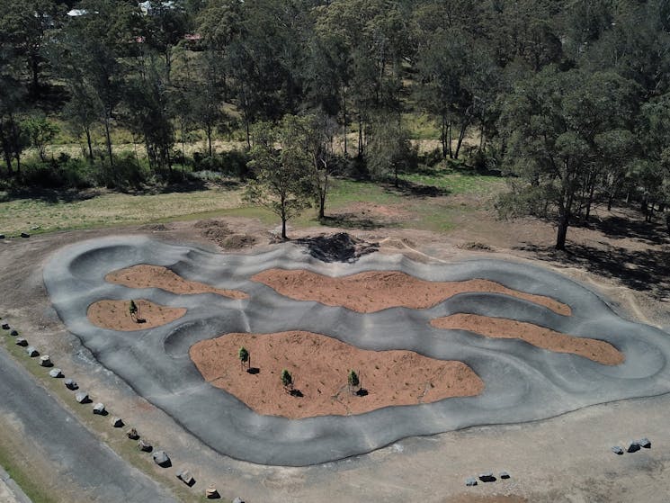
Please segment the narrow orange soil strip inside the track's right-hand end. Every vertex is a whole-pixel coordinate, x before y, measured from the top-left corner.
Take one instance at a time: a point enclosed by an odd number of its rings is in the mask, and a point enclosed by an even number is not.
[[[584,356],[603,365],[618,365],[624,361],[624,355],[621,351],[605,341],[569,336],[549,328],[514,319],[458,313],[433,319],[431,325],[436,328],[468,330],[484,337],[518,338],[532,344],[532,346],[558,353]]]

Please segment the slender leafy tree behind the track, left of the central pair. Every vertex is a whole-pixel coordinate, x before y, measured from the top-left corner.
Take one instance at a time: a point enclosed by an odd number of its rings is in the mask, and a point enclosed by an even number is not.
[[[249,167],[255,180],[247,186],[246,201],[279,216],[281,238],[287,239],[286,222],[308,208],[312,197],[310,161],[299,118],[287,115],[274,127],[267,122],[256,124],[251,155]]]

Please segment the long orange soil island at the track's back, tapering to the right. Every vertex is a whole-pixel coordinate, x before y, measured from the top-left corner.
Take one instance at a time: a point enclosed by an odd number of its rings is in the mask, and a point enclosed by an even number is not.
[[[328,306],[344,306],[362,313],[394,307],[426,309],[463,292],[495,292],[540,304],[569,316],[566,304],[532,293],[518,292],[488,280],[428,282],[398,271],[371,271],[331,278],[305,270],[270,269],[252,280],[299,301],[317,301]]]

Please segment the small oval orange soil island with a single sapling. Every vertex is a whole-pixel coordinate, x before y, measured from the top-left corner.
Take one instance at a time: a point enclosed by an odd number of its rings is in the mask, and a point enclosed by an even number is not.
[[[102,328],[132,332],[171,323],[186,314],[185,308],[170,308],[145,299],[135,300],[138,321],[130,316],[130,301],[97,301],[86,312],[91,323]]]

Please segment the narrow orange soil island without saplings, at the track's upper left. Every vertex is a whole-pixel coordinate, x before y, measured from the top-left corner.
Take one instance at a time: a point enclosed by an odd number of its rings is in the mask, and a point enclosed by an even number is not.
[[[134,265],[107,274],[104,279],[109,283],[122,284],[129,288],[160,288],[166,292],[179,294],[217,293],[231,299],[248,297],[245,292],[221,290],[209,284],[187,281],[167,267],[159,265]]]

